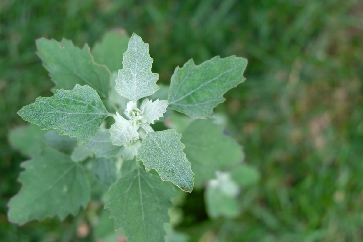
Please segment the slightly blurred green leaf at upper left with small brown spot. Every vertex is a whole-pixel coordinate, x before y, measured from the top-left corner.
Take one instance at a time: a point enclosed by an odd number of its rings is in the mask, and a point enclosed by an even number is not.
[[[37,54],[42,59],[45,69],[56,83],[57,89],[70,90],[76,84],[89,85],[102,99],[109,97],[110,71],[104,65],[96,64],[87,44],[83,49],[75,47],[70,40],[36,41]]]

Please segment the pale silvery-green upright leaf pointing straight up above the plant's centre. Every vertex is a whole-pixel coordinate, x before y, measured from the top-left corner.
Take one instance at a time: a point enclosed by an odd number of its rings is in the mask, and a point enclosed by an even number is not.
[[[156,85],[159,74],[151,72],[152,62],[149,45],[137,34],[132,34],[127,52],[123,54],[123,68],[118,70],[116,91],[134,102],[154,94],[159,89]]]

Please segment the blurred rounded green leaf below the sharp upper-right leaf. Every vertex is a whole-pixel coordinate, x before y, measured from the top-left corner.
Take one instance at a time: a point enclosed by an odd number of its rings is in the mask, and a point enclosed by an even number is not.
[[[184,152],[195,173],[195,186],[215,177],[216,171],[235,167],[244,159],[242,147],[236,140],[223,134],[223,128],[212,120],[196,119],[181,137]]]

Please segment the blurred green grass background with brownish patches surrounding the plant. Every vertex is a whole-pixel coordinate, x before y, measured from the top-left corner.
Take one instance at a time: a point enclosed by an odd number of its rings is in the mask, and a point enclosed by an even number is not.
[[[112,28],[150,44],[168,84],[189,58],[248,58],[246,82],[218,107],[258,167],[243,213],[210,221],[203,193],[187,198],[177,230],[192,241],[363,241],[363,2],[359,0],[2,0],[0,3],[0,241],[89,241],[76,218],[7,222],[25,160],[8,145],[16,112],[53,87],[36,56],[41,36],[100,41]],[[197,205],[195,205],[197,204]],[[231,237],[233,236],[233,237]],[[233,238],[233,239],[231,239]],[[42,240],[43,239],[43,240]]]

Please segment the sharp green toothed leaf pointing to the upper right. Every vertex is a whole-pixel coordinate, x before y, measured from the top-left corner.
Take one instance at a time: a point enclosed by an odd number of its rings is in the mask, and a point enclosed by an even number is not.
[[[216,56],[200,65],[189,60],[171,77],[169,106],[194,118],[212,116],[223,94],[245,80],[246,66],[247,60],[236,56]]]

